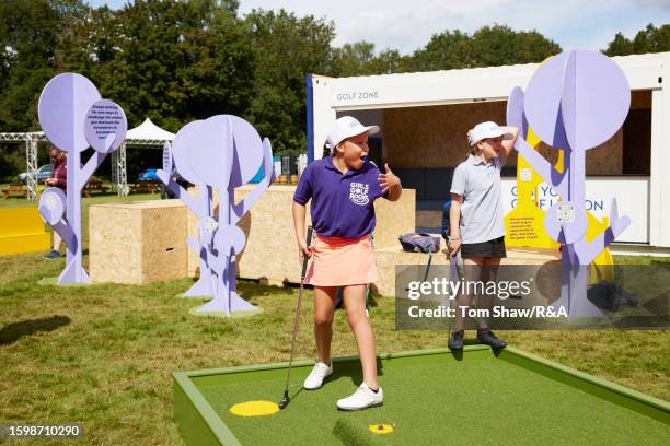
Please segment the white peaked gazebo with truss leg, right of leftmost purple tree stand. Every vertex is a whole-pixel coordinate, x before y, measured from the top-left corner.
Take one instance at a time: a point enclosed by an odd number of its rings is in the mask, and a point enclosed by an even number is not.
[[[174,133],[161,129],[151,119],[147,118],[142,124],[128,130],[126,140],[122,146],[112,152],[112,184],[119,196],[127,196],[128,176],[126,174],[126,146],[138,148],[162,148],[166,141],[172,141]]]

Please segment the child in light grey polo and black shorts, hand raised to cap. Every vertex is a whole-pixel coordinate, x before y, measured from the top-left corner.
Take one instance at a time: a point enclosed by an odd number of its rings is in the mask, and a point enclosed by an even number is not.
[[[500,259],[507,257],[500,171],[518,132],[516,127],[499,127],[490,121],[477,124],[467,132],[471,153],[453,173],[449,249],[452,256],[461,251],[466,282],[495,281]],[[463,349],[465,320],[461,307],[470,307],[473,297],[473,293],[457,297],[451,350]],[[481,294],[478,306],[490,309],[494,297]],[[477,319],[477,340],[495,349],[507,345],[490,331],[485,318]]]

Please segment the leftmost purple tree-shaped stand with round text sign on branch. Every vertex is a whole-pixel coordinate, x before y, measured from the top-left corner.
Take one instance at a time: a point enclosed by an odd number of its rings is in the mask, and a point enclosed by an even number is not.
[[[42,91],[38,116],[47,139],[68,153],[67,196],[47,188],[38,206],[42,216],[67,244],[66,268],[58,284],[91,283],[82,265],[81,189],[107,153],[124,142],[126,115],[112,101],[101,99],[95,85],[83,75],[62,73]],[[82,166],[81,152],[89,146],[95,154]]]

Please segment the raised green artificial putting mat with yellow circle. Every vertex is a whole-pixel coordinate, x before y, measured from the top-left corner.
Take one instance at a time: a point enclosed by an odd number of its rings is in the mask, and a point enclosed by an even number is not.
[[[342,412],[360,383],[358,359],[334,361],[319,390],[302,390],[311,363],[292,372],[288,407],[243,418],[231,406],[279,400],[286,365],[175,373],[175,419],[186,444],[645,444],[670,439],[670,404],[508,349],[382,355],[381,408]],[[236,371],[236,372],[235,372]],[[378,435],[374,425],[392,432]],[[209,439],[207,436],[209,435]]]

